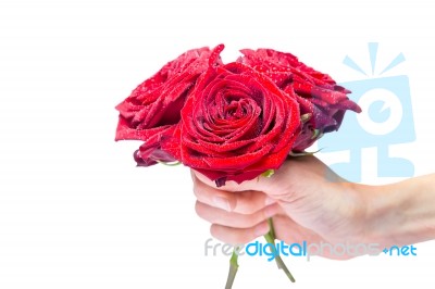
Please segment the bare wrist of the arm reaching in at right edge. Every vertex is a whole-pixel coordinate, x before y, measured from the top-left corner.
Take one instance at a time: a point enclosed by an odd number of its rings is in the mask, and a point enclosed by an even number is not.
[[[422,179],[384,186],[359,185],[364,198],[362,226],[366,242],[406,246],[434,238],[434,193]]]

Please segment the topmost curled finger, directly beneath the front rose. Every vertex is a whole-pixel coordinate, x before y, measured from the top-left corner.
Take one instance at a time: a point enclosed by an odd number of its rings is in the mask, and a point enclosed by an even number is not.
[[[199,202],[227,212],[253,214],[262,210],[264,206],[275,202],[273,199],[260,191],[226,191],[207,185],[196,177],[195,174],[192,174],[192,179],[194,193]]]

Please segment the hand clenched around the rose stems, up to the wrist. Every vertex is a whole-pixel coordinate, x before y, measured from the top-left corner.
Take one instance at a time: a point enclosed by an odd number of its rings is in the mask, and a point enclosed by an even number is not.
[[[268,233],[273,217],[277,239],[286,243],[361,242],[363,196],[314,156],[286,161],[272,177],[239,184],[213,181],[192,171],[197,214],[210,222],[213,237],[247,243]],[[330,257],[349,257],[349,255]]]

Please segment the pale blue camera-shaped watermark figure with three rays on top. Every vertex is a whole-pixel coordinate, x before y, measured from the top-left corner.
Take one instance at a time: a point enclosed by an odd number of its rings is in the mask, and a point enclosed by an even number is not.
[[[405,61],[399,53],[381,71],[376,71],[378,43],[369,43],[372,77],[341,83],[352,91],[350,99],[357,102],[362,112],[347,113],[341,127],[335,134],[325,135],[319,140],[322,152],[348,151],[349,162],[335,163],[331,167],[351,181],[361,180],[363,149],[377,151],[377,177],[411,177],[414,174],[412,162],[390,155],[390,146],[415,140],[409,78],[406,75],[383,77],[383,74]],[[343,61],[348,67],[369,76],[351,58]]]

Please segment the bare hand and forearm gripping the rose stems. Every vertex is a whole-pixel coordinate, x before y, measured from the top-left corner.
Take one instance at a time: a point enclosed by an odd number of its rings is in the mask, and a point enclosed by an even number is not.
[[[378,243],[382,250],[435,239],[435,174],[366,186],[346,181],[315,156],[302,156],[287,160],[272,177],[220,188],[198,172],[191,176],[197,214],[226,243],[266,234],[269,217],[286,243]]]

